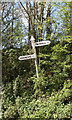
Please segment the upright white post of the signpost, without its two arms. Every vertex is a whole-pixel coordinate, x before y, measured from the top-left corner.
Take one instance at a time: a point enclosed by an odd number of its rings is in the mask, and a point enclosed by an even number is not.
[[[35,39],[34,39],[33,36],[31,36],[30,41],[31,41],[33,52],[34,52],[34,55],[35,55],[35,67],[36,67],[36,74],[37,74],[37,78],[38,78],[39,75],[38,75],[37,56],[36,56],[36,49],[35,49]]]

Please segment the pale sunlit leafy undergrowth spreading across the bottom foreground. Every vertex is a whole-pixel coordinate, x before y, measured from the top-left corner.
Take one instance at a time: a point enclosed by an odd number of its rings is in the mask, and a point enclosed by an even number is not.
[[[4,113],[4,118],[48,118],[66,119],[72,117],[72,82],[68,80],[64,87],[57,93],[52,93],[46,98],[39,97],[26,99],[17,97],[15,104],[9,103],[8,109]],[[68,100],[69,99],[69,100]]]

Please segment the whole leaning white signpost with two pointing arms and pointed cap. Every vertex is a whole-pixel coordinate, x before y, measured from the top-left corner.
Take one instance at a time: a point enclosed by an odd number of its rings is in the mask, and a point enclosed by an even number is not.
[[[19,60],[28,60],[28,59],[35,59],[35,67],[36,67],[36,74],[37,74],[37,78],[38,76],[38,67],[37,67],[37,56],[36,56],[36,49],[35,47],[39,47],[39,46],[45,46],[45,45],[49,45],[50,41],[41,41],[41,42],[35,42],[35,39],[33,36],[31,36],[31,44],[32,44],[32,48],[33,48],[33,52],[34,54],[32,55],[26,55],[26,56],[20,56],[18,59]]]

